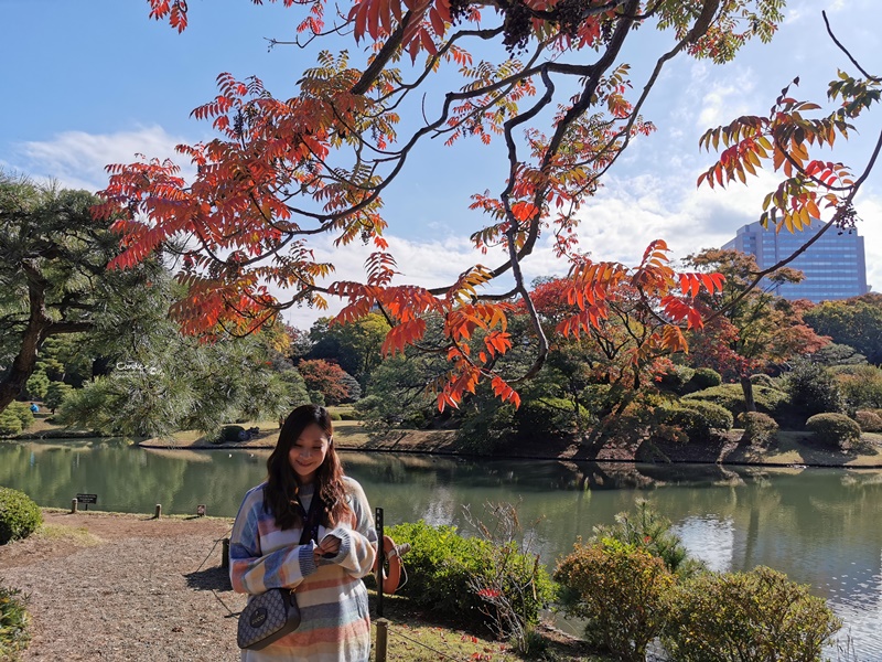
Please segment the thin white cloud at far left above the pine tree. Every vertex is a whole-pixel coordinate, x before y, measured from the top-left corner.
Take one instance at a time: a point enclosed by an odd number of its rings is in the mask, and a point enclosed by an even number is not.
[[[14,160],[7,164],[34,179],[54,179],[66,188],[98,191],[107,185],[105,166],[131,163],[138,153],[148,158],[171,158],[179,166],[189,166],[174,152],[175,145],[184,141],[155,125],[116,134],[65,131],[51,140],[18,143],[12,156]],[[187,172],[183,169],[184,177]]]

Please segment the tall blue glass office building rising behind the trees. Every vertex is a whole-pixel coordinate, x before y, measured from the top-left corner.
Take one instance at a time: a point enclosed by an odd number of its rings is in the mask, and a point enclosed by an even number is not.
[[[761,269],[767,269],[793,255],[824,224],[816,221],[803,232],[789,233],[786,228],[776,233],[765,229],[759,222],[739,228],[734,239],[723,245],[756,258]],[[865,295],[867,263],[863,255],[863,237],[857,231],[841,232],[831,227],[808,249],[787,265],[805,274],[802,282],[785,282],[775,287],[775,293],[785,299],[809,299],[814,302],[848,299]]]

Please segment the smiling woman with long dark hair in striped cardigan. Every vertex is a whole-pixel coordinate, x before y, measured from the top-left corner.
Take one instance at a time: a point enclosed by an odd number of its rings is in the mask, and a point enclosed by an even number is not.
[[[366,662],[367,591],[377,534],[362,487],[343,476],[324,407],[288,416],[267,460],[268,479],[246,495],[229,542],[233,589],[252,596],[295,588],[300,627],[247,662]],[[315,501],[315,500],[319,501]],[[300,544],[308,531],[309,542]]]

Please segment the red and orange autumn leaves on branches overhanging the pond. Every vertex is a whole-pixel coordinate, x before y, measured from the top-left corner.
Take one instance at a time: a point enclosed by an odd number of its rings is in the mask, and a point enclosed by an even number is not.
[[[352,39],[364,51],[323,50],[287,97],[273,96],[256,77],[220,74],[216,98],[193,111],[212,122],[217,137],[178,148],[197,169],[190,183],[171,161],[109,167],[106,202],[97,212],[125,215],[115,228],[126,249],[114,266],[131,267],[172,237],[189,241],[179,274],[189,293],[173,309],[184,331],[249,332],[280,310],[299,303],[324,307],[333,296],[347,302],[338,322],[372,310],[386,317],[390,330],[383,351],[395,355],[420,343],[426,316],[434,314],[443,320],[443,339],[434,349],[449,360],[435,384],[439,407],[455,406],[484,378],[498,397],[517,404],[514,385],[535,375],[548,353],[520,270],[547,235],[570,266],[564,296],[578,308],[563,321],[564,333],[598,327],[616,288],[626,287],[660,322],[648,345],[686,350],[680,324],[702,323],[692,298],[702,289],[719,290],[722,278],[675,273],[662,241],[648,246],[636,267],[595,261],[579,252],[578,212],[630,142],[654,130],[641,111],[665,64],[680,54],[723,63],[751,38],[771,39],[783,0],[355,0],[333,10],[324,0],[282,3],[304,11],[298,45],[320,40],[331,47]],[[179,31],[186,28],[183,0],[149,4],[152,18]],[[642,92],[631,95],[620,53],[652,26],[671,41],[657,54]],[[475,61],[471,54],[494,52],[494,46],[498,58]],[[456,78],[445,94],[426,94],[433,81]],[[851,105],[859,99],[869,105],[872,87],[849,79],[837,94]],[[776,132],[778,125],[741,118],[729,131],[718,131],[736,149],[722,154],[721,174],[714,170],[704,179],[723,183],[730,172],[743,179],[738,173],[755,171],[756,162],[774,151],[775,159],[781,152],[795,161],[788,174],[803,178],[798,185],[848,186],[840,168],[817,171],[819,166],[799,154],[806,142],[824,138],[830,143],[835,134],[845,135],[848,119],[861,108],[850,106],[832,124],[813,124],[798,117],[808,107],[783,97],[770,121],[789,117],[784,122],[788,139]],[[770,131],[778,145],[774,150],[763,147],[760,135]],[[716,136],[704,143],[716,147]],[[491,265],[476,264],[454,282],[423,288],[397,281],[384,237],[383,194],[406,177],[416,146],[435,138],[447,145],[501,139],[507,159],[499,162],[496,190],[477,192],[472,201],[487,217],[472,241]],[[749,138],[762,149],[745,143]],[[809,202],[816,203],[810,194],[797,195],[787,206],[790,217],[800,218],[803,209],[814,212]],[[341,249],[359,241],[373,247],[364,281],[325,285],[334,265],[313,252],[315,237],[323,235]],[[493,281],[504,274],[510,274],[514,287],[493,291]],[[512,346],[513,299],[526,306],[539,342],[534,364],[505,381],[493,363]],[[480,355],[464,343],[477,331],[484,343]]]

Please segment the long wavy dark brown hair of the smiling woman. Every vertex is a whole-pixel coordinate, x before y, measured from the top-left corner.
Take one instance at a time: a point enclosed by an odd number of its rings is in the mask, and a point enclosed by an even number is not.
[[[343,485],[343,467],[334,450],[334,426],[327,409],[318,405],[301,405],[288,415],[279,433],[276,448],[267,460],[267,484],[263,488],[263,509],[276,517],[279,528],[302,526],[300,509],[297,504],[300,481],[291,468],[288,455],[303,430],[311,424],[318,425],[327,435],[327,453],[315,473],[315,496],[320,496],[324,512],[322,524],[335,526],[341,517],[351,513]]]

